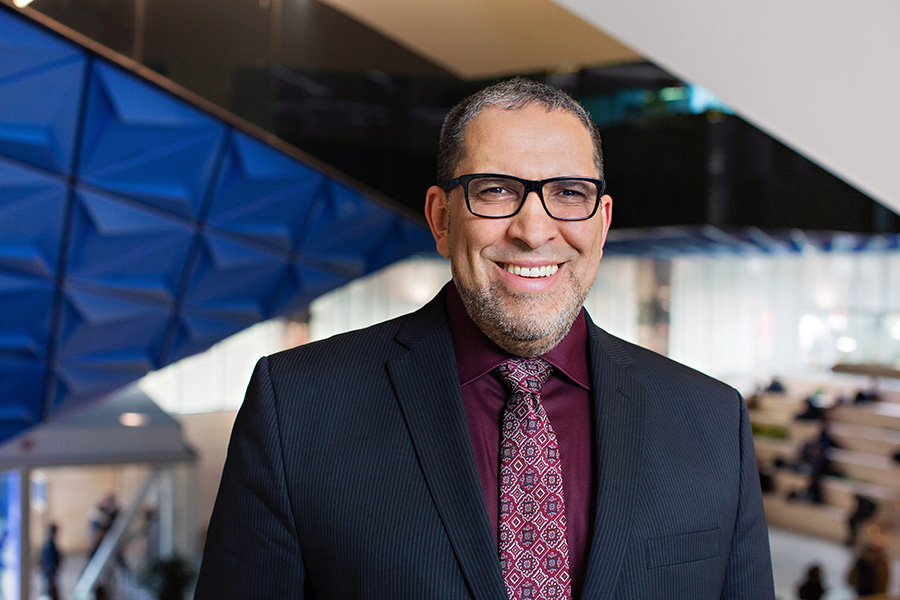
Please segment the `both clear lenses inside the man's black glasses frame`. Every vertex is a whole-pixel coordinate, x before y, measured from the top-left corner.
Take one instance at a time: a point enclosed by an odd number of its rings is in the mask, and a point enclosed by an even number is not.
[[[482,217],[508,217],[519,209],[525,184],[505,177],[477,177],[469,182],[470,210]],[[550,216],[558,219],[585,219],[597,204],[597,185],[580,179],[548,181],[541,189]]]

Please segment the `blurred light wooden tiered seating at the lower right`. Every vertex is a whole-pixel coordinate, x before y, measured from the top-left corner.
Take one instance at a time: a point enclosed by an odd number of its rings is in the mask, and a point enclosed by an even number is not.
[[[857,495],[862,495],[877,508],[858,540],[877,537],[888,552],[900,556],[900,464],[892,458],[900,451],[900,391],[879,392],[878,401],[854,404],[857,389],[852,383],[790,382],[785,393],[763,393],[751,402],[757,461],[773,473],[766,517],[771,525],[844,542]],[[856,383],[869,381],[859,378]],[[819,480],[821,504],[803,499],[811,478],[802,467],[795,468],[804,444],[822,430],[821,421],[795,420],[817,390],[823,392],[819,404],[827,407],[828,431],[836,445],[827,452],[834,474]],[[792,492],[797,499],[789,499]]]

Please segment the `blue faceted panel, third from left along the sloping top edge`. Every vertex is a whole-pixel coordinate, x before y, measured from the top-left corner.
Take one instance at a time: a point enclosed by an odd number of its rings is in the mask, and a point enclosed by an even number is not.
[[[210,227],[290,251],[324,199],[326,178],[296,159],[236,132],[229,142],[207,222]]]

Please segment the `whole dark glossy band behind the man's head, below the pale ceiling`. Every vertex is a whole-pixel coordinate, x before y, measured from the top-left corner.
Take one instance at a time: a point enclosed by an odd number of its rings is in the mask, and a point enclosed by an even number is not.
[[[488,83],[453,77],[316,0],[31,6],[415,214],[444,115]],[[649,62],[526,75],[566,89],[600,125],[615,228],[900,232],[894,212],[727,108],[688,106],[692,87]]]

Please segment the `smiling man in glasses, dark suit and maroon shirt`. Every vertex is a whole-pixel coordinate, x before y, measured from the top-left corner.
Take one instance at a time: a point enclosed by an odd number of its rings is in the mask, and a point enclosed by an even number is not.
[[[423,309],[263,358],[196,598],[774,598],[747,411],[582,309],[599,136],[515,79],[441,133]]]

